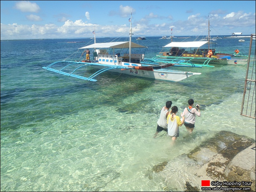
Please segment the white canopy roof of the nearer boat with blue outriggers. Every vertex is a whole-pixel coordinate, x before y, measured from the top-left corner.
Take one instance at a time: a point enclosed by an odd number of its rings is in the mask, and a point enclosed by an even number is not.
[[[94,43],[92,45],[87,45],[84,47],[81,47],[79,49],[89,49],[89,48],[129,48],[129,41],[121,41],[121,42],[110,42],[110,43]],[[137,47],[145,47],[142,45],[138,45],[136,43],[131,42],[131,48],[137,48]],[[145,47],[146,48],[146,47]]]

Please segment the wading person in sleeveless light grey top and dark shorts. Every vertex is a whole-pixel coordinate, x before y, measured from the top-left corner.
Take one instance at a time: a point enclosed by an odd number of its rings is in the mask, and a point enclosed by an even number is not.
[[[161,113],[160,113],[160,117],[157,121],[157,132],[155,133],[155,136],[157,136],[157,134],[163,130],[165,130],[166,132],[168,132],[167,129],[167,116],[169,114],[169,109],[170,107],[172,107],[172,101],[166,101],[165,106],[162,107]]]

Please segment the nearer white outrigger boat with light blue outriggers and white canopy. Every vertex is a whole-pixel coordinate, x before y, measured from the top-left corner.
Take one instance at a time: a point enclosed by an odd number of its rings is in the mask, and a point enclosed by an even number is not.
[[[83,55],[85,51],[83,51],[83,53],[81,51],[82,58],[83,58],[82,60],[78,59],[75,61],[67,61],[67,59],[65,59],[63,61],[54,62],[46,67],[43,67],[43,69],[56,72],[59,74],[63,74],[66,76],[87,80],[87,81],[97,81],[95,77],[106,71],[123,73],[123,74],[136,76],[136,77],[153,78],[153,79],[166,80],[166,81],[181,81],[192,75],[201,74],[201,73],[166,69],[169,66],[175,65],[175,63],[177,64],[181,62],[177,60],[173,63],[169,62],[164,64],[159,64],[159,63],[144,64],[142,62],[144,59],[144,54],[131,54],[131,48],[147,48],[147,47],[131,42],[131,36],[132,36],[132,23],[130,27],[130,41],[96,43],[96,39],[94,38],[94,44],[79,48],[79,50],[94,49],[93,61],[86,60]],[[108,48],[109,51],[106,48]],[[125,48],[129,49],[129,54],[128,53],[120,54],[119,51],[115,52],[115,49],[123,50]],[[81,55],[80,55],[80,58],[81,58]],[[65,66],[64,64],[68,64],[68,65]],[[57,69],[53,68],[53,65],[56,66]],[[89,67],[89,66],[99,70],[91,74],[89,77],[84,77],[82,75],[83,72],[80,72],[79,69]],[[88,70],[86,70],[86,72],[88,72]]]

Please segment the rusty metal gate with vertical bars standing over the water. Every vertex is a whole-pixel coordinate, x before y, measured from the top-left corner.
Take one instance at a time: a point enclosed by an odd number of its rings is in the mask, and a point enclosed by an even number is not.
[[[251,34],[240,115],[255,119],[255,46],[252,50],[252,43],[255,43],[255,39],[253,38],[255,38],[255,34]],[[251,54],[254,54],[254,56],[251,57]]]

